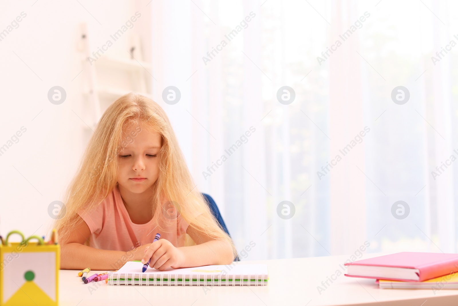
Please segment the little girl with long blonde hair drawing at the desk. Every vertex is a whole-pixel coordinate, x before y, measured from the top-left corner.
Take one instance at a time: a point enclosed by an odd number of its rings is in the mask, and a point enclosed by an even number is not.
[[[56,221],[60,268],[230,264],[237,252],[197,190],[164,110],[124,95],[105,111]],[[153,242],[156,234],[160,239]]]

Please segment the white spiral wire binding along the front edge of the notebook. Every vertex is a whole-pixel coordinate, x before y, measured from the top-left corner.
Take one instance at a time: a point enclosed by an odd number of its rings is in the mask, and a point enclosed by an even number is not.
[[[186,274],[183,274],[181,276],[182,280],[178,281],[178,278],[179,278],[179,275],[180,274],[172,274],[172,273],[161,273],[160,275],[158,275],[157,273],[129,273],[129,272],[125,272],[125,273],[116,273],[117,274],[117,277],[114,278],[114,272],[109,272],[108,273],[108,284],[110,285],[135,285],[135,284],[139,284],[139,285],[147,285],[147,286],[150,286],[150,285],[153,285],[153,286],[164,286],[164,285],[168,285],[168,286],[178,286],[178,285],[183,285],[185,286],[186,285]],[[136,281],[136,275],[138,274],[138,281]],[[121,279],[123,278],[124,276],[124,281],[121,281]],[[167,277],[167,281],[164,281],[164,276]],[[229,279],[229,275],[226,275],[225,278],[223,279],[223,275],[222,274],[218,274],[218,278],[215,278],[215,275],[212,274],[211,275],[211,279],[210,278],[207,278],[207,274],[203,274],[203,284],[201,284],[201,278],[200,278],[200,274],[197,273],[197,274],[190,274],[189,275],[189,284],[190,286],[215,286],[215,285],[218,285],[218,286],[236,286],[237,285],[237,282],[235,279],[237,279],[237,276],[238,274],[232,274],[231,275],[231,279]],[[253,275],[254,276],[254,279],[255,280],[255,286],[264,286],[266,285],[266,282],[265,282],[265,278],[264,278],[264,274],[261,275],[261,278],[259,277],[259,275],[255,274]],[[129,280],[129,277],[131,277],[131,279]],[[144,279],[145,277],[145,279]],[[153,280],[151,280],[151,277],[153,277]],[[158,278],[159,277],[159,278]],[[172,277],[174,278],[174,282],[172,282]],[[193,284],[193,278],[196,278],[196,284]],[[208,284],[208,281],[211,280],[210,284]],[[240,281],[238,282],[239,285],[248,285],[248,286],[252,286],[251,284],[251,274],[248,274],[248,278],[247,278],[247,281],[246,281],[246,284],[245,284],[245,280],[243,278],[243,274],[240,274]]]

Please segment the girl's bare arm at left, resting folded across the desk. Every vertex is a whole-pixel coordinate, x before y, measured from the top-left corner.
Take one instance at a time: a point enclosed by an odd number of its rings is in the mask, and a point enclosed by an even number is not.
[[[125,262],[139,260],[148,245],[142,245],[131,251],[99,250],[91,246],[89,236],[91,231],[80,216],[80,226],[75,227],[71,235],[60,241],[60,268],[82,270],[118,270]],[[89,246],[84,245],[85,242]]]

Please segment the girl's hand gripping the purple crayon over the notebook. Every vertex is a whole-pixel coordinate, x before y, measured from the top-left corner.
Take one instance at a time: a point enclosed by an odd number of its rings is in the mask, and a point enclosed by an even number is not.
[[[167,239],[159,239],[145,248],[142,264],[149,262],[149,266],[163,271],[169,267],[174,269],[183,266],[185,254]]]

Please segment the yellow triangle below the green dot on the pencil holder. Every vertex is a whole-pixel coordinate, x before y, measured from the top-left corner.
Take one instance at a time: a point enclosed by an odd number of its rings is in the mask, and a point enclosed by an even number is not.
[[[25,282],[20,289],[11,295],[4,306],[48,306],[57,305],[46,293],[43,292],[33,281]]]

